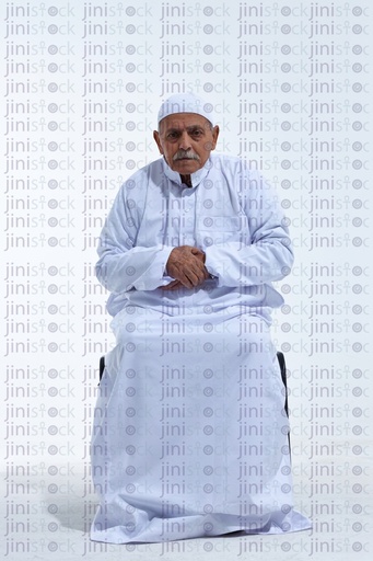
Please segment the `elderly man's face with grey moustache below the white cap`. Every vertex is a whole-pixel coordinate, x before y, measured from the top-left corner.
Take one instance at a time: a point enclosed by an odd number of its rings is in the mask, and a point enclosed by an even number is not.
[[[163,118],[153,137],[167,164],[182,175],[200,170],[214,150],[219,127],[202,115],[175,113]]]

